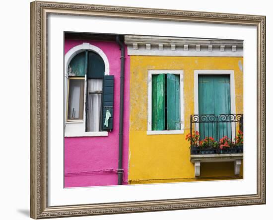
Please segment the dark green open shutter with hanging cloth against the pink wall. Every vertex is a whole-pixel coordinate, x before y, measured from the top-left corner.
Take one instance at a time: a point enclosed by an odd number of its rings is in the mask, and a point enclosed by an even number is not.
[[[102,130],[113,130],[114,119],[114,75],[105,75],[103,77],[103,90],[102,90]],[[104,125],[107,110],[110,111],[111,117],[108,121],[108,127]]]

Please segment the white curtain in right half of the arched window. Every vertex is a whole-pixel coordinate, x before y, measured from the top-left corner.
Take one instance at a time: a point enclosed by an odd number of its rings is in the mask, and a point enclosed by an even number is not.
[[[101,129],[102,79],[88,79],[87,131]]]

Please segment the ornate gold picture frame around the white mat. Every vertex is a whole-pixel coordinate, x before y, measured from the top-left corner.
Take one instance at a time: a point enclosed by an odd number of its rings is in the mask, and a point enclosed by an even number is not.
[[[33,219],[154,212],[266,203],[266,17],[200,11],[33,1],[31,11],[30,216]],[[257,193],[217,197],[48,205],[48,16],[92,16],[234,24],[257,28]],[[197,183],[198,184],[198,183]]]

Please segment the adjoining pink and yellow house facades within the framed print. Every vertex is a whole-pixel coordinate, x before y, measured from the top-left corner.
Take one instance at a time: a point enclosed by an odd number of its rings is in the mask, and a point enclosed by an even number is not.
[[[124,56],[113,37],[65,40],[65,187],[117,185],[119,171],[122,184],[243,178],[242,153],[193,151],[243,130],[243,42],[125,35],[122,45]]]

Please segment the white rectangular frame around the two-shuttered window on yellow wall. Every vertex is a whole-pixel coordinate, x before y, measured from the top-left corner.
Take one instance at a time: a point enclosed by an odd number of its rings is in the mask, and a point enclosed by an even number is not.
[[[152,131],[152,75],[153,74],[178,74],[180,75],[180,130]],[[148,123],[147,135],[177,135],[184,134],[184,83],[183,70],[148,70]]]

